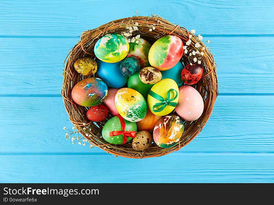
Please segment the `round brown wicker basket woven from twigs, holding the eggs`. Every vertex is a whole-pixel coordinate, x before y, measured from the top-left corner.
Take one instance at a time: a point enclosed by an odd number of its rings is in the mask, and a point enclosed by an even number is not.
[[[181,137],[179,143],[171,148],[161,148],[153,143],[148,149],[144,151],[136,151],[132,148],[131,142],[123,145],[109,144],[102,138],[102,127],[109,120],[112,115],[108,115],[106,120],[98,123],[93,123],[87,120],[86,107],[77,105],[73,102],[71,97],[71,90],[73,86],[80,80],[86,78],[87,76],[82,76],[74,70],[73,63],[81,57],[92,57],[95,59],[93,52],[94,45],[96,41],[105,35],[106,33],[120,33],[125,30],[126,25],[138,22],[139,30],[135,34],[140,34],[142,38],[153,44],[157,39],[166,35],[176,35],[180,37],[185,45],[185,42],[189,39],[188,31],[168,22],[159,16],[152,17],[128,17],[119,20],[115,20],[104,24],[96,29],[88,30],[83,32],[80,36],[81,40],[73,47],[69,52],[66,60],[64,61],[64,79],[63,87],[61,90],[61,95],[63,96],[64,105],[69,115],[69,120],[75,125],[78,131],[89,140],[90,144],[97,146],[107,153],[114,154],[116,156],[126,157],[126,158],[148,158],[148,157],[158,157],[173,151],[179,150],[186,144],[188,144],[192,139],[199,134],[205,123],[210,117],[210,114],[215,103],[215,99],[218,95],[218,81],[216,76],[216,65],[214,63],[214,58],[208,49],[204,50],[204,56],[202,57],[202,65],[204,66],[204,76],[202,79],[192,85],[196,90],[198,90],[204,100],[204,111],[201,117],[196,121],[185,121],[185,129],[183,136]],[[155,25],[155,30],[149,31],[150,25]],[[188,47],[195,46],[195,43],[199,42],[201,46],[205,46],[197,37],[191,38],[191,45]],[[181,62],[183,65],[189,64],[189,59],[186,55],[182,56]],[[96,76],[97,74],[95,74]],[[174,113],[175,111],[173,111]],[[85,129],[83,129],[85,127]]]

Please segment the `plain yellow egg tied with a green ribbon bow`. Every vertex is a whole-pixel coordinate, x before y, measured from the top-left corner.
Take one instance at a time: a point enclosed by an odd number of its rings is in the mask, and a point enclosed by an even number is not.
[[[174,90],[171,90],[174,89]],[[167,99],[167,95],[168,95],[168,91],[169,91],[169,99],[173,99],[176,97],[176,93],[178,94],[177,97],[170,101],[173,102],[173,104],[175,103],[175,105],[177,105],[178,99],[179,99],[179,89],[178,89],[178,85],[175,81],[173,81],[172,79],[166,78],[163,79],[161,81],[159,81],[158,83],[156,83],[155,85],[153,85],[153,87],[150,89],[151,91],[153,91],[154,93],[156,93],[157,95],[161,96],[164,100]],[[149,95],[148,95],[148,106],[149,106],[149,110],[154,114],[154,115],[158,115],[158,116],[164,116],[164,115],[168,115],[169,113],[171,113],[175,106],[171,106],[171,105],[166,105],[164,107],[164,109],[162,111],[157,112],[158,109],[160,109],[161,106],[155,107],[153,108],[153,106],[156,103],[160,103],[162,101],[155,99],[154,97],[152,97],[150,95],[149,91]],[[162,105],[164,106],[164,105]]]

